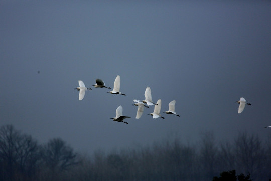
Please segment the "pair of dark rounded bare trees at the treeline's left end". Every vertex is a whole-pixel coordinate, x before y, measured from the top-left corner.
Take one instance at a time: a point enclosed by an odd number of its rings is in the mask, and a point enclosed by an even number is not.
[[[0,128],[0,180],[61,180],[77,155],[60,138],[39,145],[12,125]]]

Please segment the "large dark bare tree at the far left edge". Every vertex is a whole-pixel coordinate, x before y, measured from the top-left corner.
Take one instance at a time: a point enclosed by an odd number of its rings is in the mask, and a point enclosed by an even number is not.
[[[1,126],[0,160],[4,180],[31,180],[39,161],[38,143],[12,125]]]

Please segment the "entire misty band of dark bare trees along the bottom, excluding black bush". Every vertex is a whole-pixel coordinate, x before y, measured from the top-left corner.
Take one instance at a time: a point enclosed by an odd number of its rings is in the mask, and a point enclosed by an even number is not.
[[[178,139],[93,155],[75,153],[60,138],[40,145],[12,125],[0,128],[0,180],[213,180],[223,171],[271,178],[271,137],[240,133],[218,142],[212,132],[199,144]]]

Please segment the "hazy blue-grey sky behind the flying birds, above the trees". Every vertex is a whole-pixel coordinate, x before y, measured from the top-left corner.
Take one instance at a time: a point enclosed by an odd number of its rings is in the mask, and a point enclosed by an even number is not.
[[[271,129],[271,1],[0,0],[0,121],[40,143],[60,137],[76,151],[119,149],[201,131],[232,139]],[[38,73],[40,71],[40,73]],[[120,91],[78,80],[102,79]],[[161,112],[135,119],[147,86]],[[251,106],[238,114],[244,97]],[[129,125],[114,122],[122,105]]]

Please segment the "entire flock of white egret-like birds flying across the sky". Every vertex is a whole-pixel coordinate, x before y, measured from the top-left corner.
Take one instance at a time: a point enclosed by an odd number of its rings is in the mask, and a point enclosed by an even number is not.
[[[79,80],[78,81],[79,83],[79,87],[75,88],[79,91],[79,100],[82,100],[85,96],[85,92],[86,90],[91,90],[91,88],[86,88],[84,82],[82,80]],[[95,88],[108,88],[108,89],[111,89],[110,87],[106,87],[104,82],[101,80],[101,79],[96,79],[96,83],[95,85],[92,85],[94,86]],[[112,91],[108,91],[107,93],[111,93],[111,94],[121,94],[121,95],[124,95],[123,93],[121,93],[119,91],[120,89],[120,76],[117,75],[115,81],[114,81],[114,88]],[[137,116],[135,116],[136,119],[139,119],[142,114],[143,114],[143,111],[144,111],[144,107],[147,107],[149,108],[149,106],[154,106],[154,112],[153,113],[149,113],[148,115],[152,115],[153,118],[163,118],[165,119],[164,117],[162,117],[160,115],[160,110],[161,110],[161,99],[158,99],[158,101],[156,103],[154,103],[152,101],[152,92],[151,92],[151,88],[150,87],[147,87],[146,90],[145,90],[145,93],[144,93],[144,96],[145,96],[145,100],[137,100],[137,99],[134,99],[133,101],[136,102],[134,103],[133,105],[135,106],[138,106],[138,111],[137,111]],[[247,103],[246,100],[241,97],[239,101],[235,101],[239,104],[239,108],[238,108],[238,113],[242,113],[244,111],[244,108],[245,108],[245,105],[251,105],[250,103]],[[169,110],[168,111],[164,111],[163,113],[166,113],[166,114],[174,114],[176,116],[179,116],[176,112],[175,112],[175,103],[176,101],[173,100],[169,103]],[[147,106],[146,106],[147,104]],[[125,118],[130,118],[130,116],[123,116],[122,115],[122,111],[123,111],[123,108],[122,106],[118,106],[117,109],[116,109],[116,117],[114,118],[110,118],[110,119],[113,119],[114,121],[118,121],[118,122],[123,122],[123,123],[126,123],[128,124],[127,122],[123,121]],[[267,126],[265,128],[271,128],[271,126]]]

